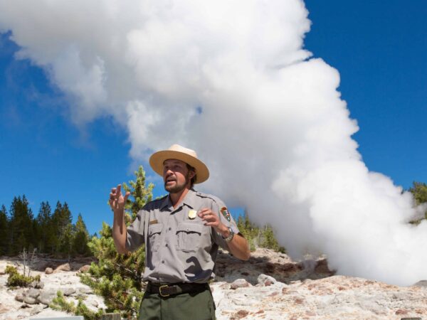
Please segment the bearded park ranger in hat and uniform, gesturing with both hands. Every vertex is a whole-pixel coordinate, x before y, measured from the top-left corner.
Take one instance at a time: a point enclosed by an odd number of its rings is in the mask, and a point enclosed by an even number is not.
[[[215,319],[215,304],[208,281],[215,277],[218,246],[241,260],[249,247],[224,203],[194,190],[194,183],[209,178],[196,152],[174,144],[149,159],[163,177],[168,196],[147,203],[126,228],[120,185],[112,188],[112,235],[117,252],[146,244],[144,280],[148,281],[139,319]]]

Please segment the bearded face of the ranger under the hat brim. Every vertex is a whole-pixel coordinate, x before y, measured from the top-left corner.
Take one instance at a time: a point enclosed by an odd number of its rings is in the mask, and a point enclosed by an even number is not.
[[[190,186],[192,171],[187,169],[186,163],[177,159],[167,159],[163,163],[164,189],[169,193],[179,193]]]

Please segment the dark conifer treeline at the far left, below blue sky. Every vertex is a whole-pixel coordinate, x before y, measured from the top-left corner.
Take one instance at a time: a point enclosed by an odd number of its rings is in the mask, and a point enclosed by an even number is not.
[[[0,255],[18,255],[24,249],[56,257],[90,255],[82,215],[72,221],[66,202],[58,201],[55,210],[42,202],[34,216],[25,195],[14,197],[9,212],[4,205],[0,209]]]

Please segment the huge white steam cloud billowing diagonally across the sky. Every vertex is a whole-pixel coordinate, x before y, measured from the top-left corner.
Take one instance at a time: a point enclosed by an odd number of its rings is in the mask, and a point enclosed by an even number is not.
[[[300,0],[0,0],[0,30],[73,100],[73,122],[114,117],[137,160],[196,149],[205,190],[273,225],[294,257],[426,279],[427,223],[409,225],[411,195],[362,162],[339,73],[303,48],[307,14]]]

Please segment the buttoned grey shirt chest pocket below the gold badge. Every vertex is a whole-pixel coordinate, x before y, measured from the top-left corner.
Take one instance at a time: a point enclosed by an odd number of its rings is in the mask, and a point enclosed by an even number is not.
[[[196,252],[200,247],[204,225],[198,223],[179,223],[176,228],[176,249],[184,252]]]

